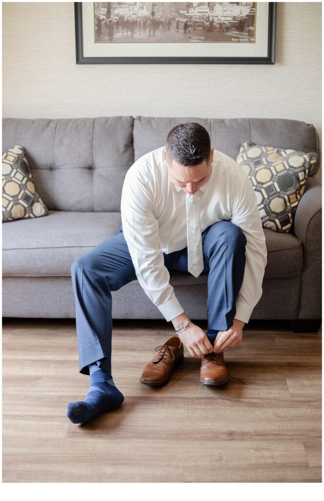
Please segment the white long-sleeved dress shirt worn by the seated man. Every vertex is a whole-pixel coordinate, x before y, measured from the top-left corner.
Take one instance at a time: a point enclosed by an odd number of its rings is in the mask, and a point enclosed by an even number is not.
[[[167,322],[184,312],[170,285],[162,253],[187,246],[186,192],[173,184],[161,146],[128,169],[121,197],[123,233],[136,276],[145,294]],[[194,168],[194,167],[193,167]],[[256,194],[241,165],[214,150],[212,173],[199,197],[201,231],[226,220],[246,236],[245,271],[235,318],[248,323],[262,295],[267,249]]]

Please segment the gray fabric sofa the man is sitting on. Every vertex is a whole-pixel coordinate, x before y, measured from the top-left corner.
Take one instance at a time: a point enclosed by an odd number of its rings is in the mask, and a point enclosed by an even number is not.
[[[236,159],[242,142],[315,151],[313,125],[288,119],[113,116],[3,119],[3,151],[27,149],[49,215],[3,223],[3,316],[75,318],[72,263],[119,232],[124,176],[144,153],[165,144],[181,122],[201,123],[212,147]],[[264,228],[263,295],[251,319],[289,320],[294,332],[321,323],[321,183],[311,176],[289,233]],[[206,319],[207,274],[173,272],[170,283],[189,318]],[[138,281],[112,292],[114,319],[162,319]]]

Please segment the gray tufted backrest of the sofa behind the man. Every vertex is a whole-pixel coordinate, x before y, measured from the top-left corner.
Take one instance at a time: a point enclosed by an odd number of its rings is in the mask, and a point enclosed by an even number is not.
[[[48,209],[120,212],[124,177],[140,156],[163,146],[169,130],[198,122],[211,145],[236,160],[241,143],[314,151],[320,165],[318,133],[312,124],[275,118],[98,117],[3,118],[3,151],[26,148],[38,193]]]

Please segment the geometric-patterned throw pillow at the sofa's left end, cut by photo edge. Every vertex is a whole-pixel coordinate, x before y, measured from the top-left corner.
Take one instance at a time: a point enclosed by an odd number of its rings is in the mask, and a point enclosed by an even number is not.
[[[2,157],[3,222],[48,214],[42,198],[36,193],[24,146],[16,145]]]

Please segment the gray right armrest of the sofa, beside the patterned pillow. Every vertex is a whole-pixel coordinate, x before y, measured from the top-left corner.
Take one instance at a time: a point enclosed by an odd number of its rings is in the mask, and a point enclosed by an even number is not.
[[[318,179],[308,177],[294,213],[292,231],[303,246],[299,319],[321,318],[321,188]]]

